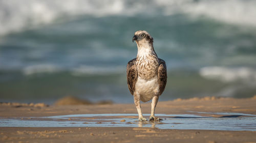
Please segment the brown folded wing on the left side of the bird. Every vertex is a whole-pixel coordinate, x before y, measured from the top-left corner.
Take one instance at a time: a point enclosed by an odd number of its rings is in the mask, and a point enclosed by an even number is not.
[[[135,84],[138,78],[135,62],[136,62],[136,58],[129,61],[126,67],[127,84],[128,84],[129,91],[131,92],[132,95],[135,91]]]

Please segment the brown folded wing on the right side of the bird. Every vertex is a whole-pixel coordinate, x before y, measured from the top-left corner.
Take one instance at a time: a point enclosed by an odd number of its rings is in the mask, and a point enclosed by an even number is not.
[[[167,82],[167,69],[165,62],[162,59],[159,59],[159,67],[157,71],[158,84],[160,89],[160,95],[163,93],[166,82]]]

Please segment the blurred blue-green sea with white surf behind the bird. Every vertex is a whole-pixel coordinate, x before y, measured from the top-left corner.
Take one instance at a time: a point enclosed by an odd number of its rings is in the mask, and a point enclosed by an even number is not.
[[[256,1],[0,1],[0,101],[132,103],[126,64],[146,30],[165,60],[160,101],[256,94]]]

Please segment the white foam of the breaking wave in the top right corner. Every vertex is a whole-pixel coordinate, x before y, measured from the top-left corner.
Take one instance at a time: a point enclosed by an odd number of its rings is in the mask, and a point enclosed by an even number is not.
[[[205,15],[231,24],[256,25],[256,1],[199,1],[184,10],[194,15]]]

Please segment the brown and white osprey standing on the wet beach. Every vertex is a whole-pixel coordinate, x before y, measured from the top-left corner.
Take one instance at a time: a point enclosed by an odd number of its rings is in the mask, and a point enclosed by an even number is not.
[[[138,111],[139,121],[143,118],[140,101],[151,103],[150,121],[159,121],[155,117],[155,108],[159,96],[163,93],[167,82],[167,69],[165,61],[158,58],[154,50],[153,38],[146,31],[134,33],[133,42],[137,43],[137,56],[129,61],[126,67],[127,85],[134,96],[134,103]]]

